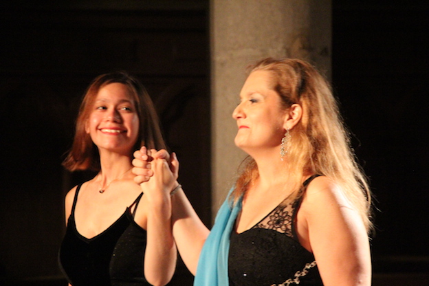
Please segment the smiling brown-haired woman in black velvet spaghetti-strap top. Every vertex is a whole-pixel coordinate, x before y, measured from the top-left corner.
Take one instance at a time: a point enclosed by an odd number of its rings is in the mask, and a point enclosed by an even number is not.
[[[98,76],[63,162],[70,171],[98,172],[65,197],[59,261],[70,285],[165,285],[173,276],[173,237],[160,241],[156,233],[169,233],[170,212],[152,208],[153,192],[143,195],[146,183],[138,186],[131,173],[133,151],[141,146],[166,148],[151,98],[124,72]]]

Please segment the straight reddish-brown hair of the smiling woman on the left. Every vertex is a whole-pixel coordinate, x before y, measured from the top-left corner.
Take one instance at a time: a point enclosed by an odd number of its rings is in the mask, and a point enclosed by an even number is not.
[[[73,145],[63,162],[63,166],[67,170],[100,170],[98,148],[85,131],[85,123],[89,118],[98,91],[111,83],[122,83],[122,85],[125,85],[129,91],[129,96],[133,98],[140,121],[135,150],[141,146],[157,150],[166,148],[159,128],[159,120],[155,107],[144,86],[136,78],[126,74],[126,72],[102,74],[96,77],[91,85],[89,85],[80,104]]]

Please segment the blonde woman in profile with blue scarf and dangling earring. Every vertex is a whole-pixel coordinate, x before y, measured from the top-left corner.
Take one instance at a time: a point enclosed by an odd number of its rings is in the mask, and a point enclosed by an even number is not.
[[[305,61],[265,58],[240,100],[234,142],[249,157],[210,235],[183,190],[172,199],[194,285],[371,285],[371,194],[327,80]],[[146,157],[135,157],[139,175]]]

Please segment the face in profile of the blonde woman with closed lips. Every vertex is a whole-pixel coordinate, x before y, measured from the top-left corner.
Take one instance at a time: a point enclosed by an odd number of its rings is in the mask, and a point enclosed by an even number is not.
[[[241,89],[241,103],[232,113],[239,127],[234,142],[249,154],[278,153],[285,134],[286,112],[281,110],[281,98],[273,89],[273,81],[271,72],[252,72]]]

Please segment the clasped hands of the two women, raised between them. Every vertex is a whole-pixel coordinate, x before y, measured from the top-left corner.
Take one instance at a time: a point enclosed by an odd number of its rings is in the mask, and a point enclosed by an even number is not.
[[[134,181],[139,184],[142,191],[149,196],[162,195],[170,196],[170,192],[175,189],[177,177],[179,177],[179,161],[176,154],[171,155],[164,149],[148,150],[142,146],[140,150],[134,152],[133,174]],[[159,193],[159,190],[162,190]]]

